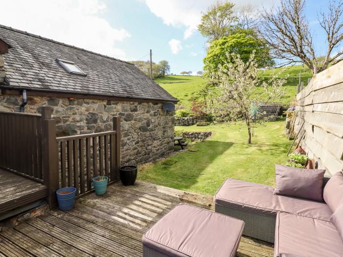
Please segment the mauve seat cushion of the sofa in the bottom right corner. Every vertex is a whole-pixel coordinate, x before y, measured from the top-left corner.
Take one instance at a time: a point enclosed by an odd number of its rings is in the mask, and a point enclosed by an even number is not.
[[[342,257],[343,243],[330,221],[280,212],[274,253],[275,257]]]

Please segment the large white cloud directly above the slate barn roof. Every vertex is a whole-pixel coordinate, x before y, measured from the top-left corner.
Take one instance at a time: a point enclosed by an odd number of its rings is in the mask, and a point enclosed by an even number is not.
[[[121,59],[116,42],[130,37],[101,17],[101,0],[11,0],[1,3],[0,24]]]

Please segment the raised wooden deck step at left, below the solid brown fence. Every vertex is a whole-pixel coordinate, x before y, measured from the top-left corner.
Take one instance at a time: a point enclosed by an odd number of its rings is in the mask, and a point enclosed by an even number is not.
[[[0,169],[0,214],[46,196],[43,184]]]

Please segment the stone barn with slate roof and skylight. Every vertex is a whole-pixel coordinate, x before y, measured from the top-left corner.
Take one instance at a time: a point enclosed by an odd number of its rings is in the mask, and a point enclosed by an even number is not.
[[[0,25],[0,90],[0,111],[50,105],[57,136],[108,131],[121,116],[122,164],[173,150],[174,115],[162,105],[177,99],[128,62]]]

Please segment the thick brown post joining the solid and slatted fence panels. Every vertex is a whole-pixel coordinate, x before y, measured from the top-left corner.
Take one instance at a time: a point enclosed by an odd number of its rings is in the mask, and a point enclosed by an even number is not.
[[[56,190],[59,188],[56,127],[55,120],[51,118],[52,108],[43,105],[41,110],[43,180],[48,187],[48,204],[50,208],[54,208],[57,206]]]

